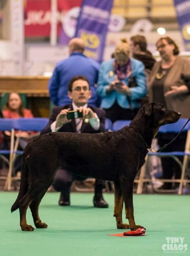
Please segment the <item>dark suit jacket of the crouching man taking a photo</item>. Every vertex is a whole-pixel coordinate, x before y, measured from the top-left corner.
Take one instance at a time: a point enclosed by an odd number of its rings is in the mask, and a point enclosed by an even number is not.
[[[60,113],[62,109],[68,109],[73,110],[72,105],[65,105],[63,107],[55,107],[52,110],[52,114],[50,116],[49,122],[47,126],[41,131],[42,134],[46,134],[48,132],[51,132],[51,124],[56,120],[57,115]],[[82,123],[81,127],[81,133],[99,133],[99,132],[105,132],[105,111],[101,108],[95,108],[88,106],[88,108],[91,108],[94,113],[97,114],[98,118],[100,119],[100,127],[98,130],[94,130],[94,128],[88,123],[84,122]],[[75,119],[72,119],[71,122],[64,124],[58,132],[76,132],[76,123]]]

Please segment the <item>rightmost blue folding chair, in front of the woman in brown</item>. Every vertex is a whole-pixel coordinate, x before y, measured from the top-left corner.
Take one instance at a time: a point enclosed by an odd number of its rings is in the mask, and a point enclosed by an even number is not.
[[[174,132],[176,133],[176,135],[180,132],[181,128],[183,127],[183,125],[187,122],[188,119],[186,118],[180,118],[176,123],[173,124],[167,124],[164,126],[161,126],[159,129],[160,133],[169,133],[169,132]],[[187,169],[187,165],[188,165],[188,157],[190,156],[190,151],[189,151],[189,147],[190,147],[190,123],[188,123],[185,128],[183,129],[182,132],[187,132],[187,138],[186,138],[186,145],[185,145],[185,150],[184,152],[181,151],[175,151],[175,152],[148,152],[147,156],[146,156],[146,161],[145,164],[142,167],[142,171],[141,171],[141,177],[140,177],[140,184],[139,184],[139,190],[137,191],[137,193],[142,193],[142,186],[143,186],[143,182],[146,181],[146,179],[144,179],[144,174],[145,174],[145,170],[146,170],[146,163],[149,157],[151,156],[156,156],[156,157],[172,157],[181,167],[181,179],[165,179],[162,180],[163,182],[179,182],[180,186],[179,186],[179,190],[178,190],[178,194],[181,195],[182,194],[182,187],[184,183],[190,183],[190,180],[186,180],[185,179],[185,171]],[[177,156],[183,156],[183,162],[181,163],[181,161],[177,158]],[[151,182],[151,180],[149,180]],[[154,188],[153,184],[151,183],[153,191],[158,192],[157,189]],[[160,190],[159,192],[165,192],[165,190]],[[171,192],[171,190],[168,190],[168,192]]]

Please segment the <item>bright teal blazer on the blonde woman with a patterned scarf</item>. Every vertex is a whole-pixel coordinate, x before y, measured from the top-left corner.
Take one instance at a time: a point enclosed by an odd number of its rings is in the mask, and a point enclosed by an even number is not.
[[[110,108],[115,101],[117,101],[118,105],[122,108],[130,108],[129,100],[126,95],[118,93],[116,91],[111,91],[106,93],[107,86],[115,80],[115,74],[113,70],[113,62],[114,59],[104,61],[99,70],[98,77],[98,86],[97,86],[97,94],[102,98],[101,108]],[[144,65],[141,61],[131,58],[132,65],[132,74],[130,76],[134,76],[137,82],[137,87],[132,87],[131,90],[131,106],[133,108],[140,108],[141,104],[138,101],[146,96],[146,77],[144,73]],[[129,77],[121,80],[121,82],[125,82],[128,84]]]

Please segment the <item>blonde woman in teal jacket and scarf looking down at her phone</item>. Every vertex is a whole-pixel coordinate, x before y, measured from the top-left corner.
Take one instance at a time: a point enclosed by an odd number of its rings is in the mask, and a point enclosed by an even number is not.
[[[132,120],[147,92],[144,65],[129,54],[129,43],[121,39],[114,52],[115,58],[100,66],[97,94],[102,98],[100,107],[112,122]]]

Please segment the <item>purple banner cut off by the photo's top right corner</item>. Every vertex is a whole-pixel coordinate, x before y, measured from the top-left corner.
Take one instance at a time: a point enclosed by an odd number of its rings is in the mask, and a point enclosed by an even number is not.
[[[190,50],[190,0],[174,0],[177,20],[183,37],[184,48]]]

